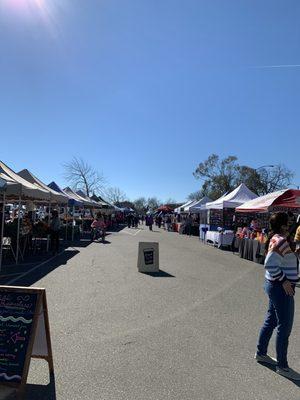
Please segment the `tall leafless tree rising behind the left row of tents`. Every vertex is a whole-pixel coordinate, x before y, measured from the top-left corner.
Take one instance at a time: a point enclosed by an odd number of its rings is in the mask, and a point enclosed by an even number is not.
[[[73,157],[72,160],[63,164],[65,169],[64,178],[74,190],[82,190],[87,196],[102,193],[105,178],[102,173],[96,171],[82,158]]]

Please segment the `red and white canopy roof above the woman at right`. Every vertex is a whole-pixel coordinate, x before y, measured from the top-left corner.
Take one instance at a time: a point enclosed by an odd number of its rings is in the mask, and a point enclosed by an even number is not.
[[[235,209],[237,212],[293,211],[300,213],[300,190],[285,189],[247,201]]]

